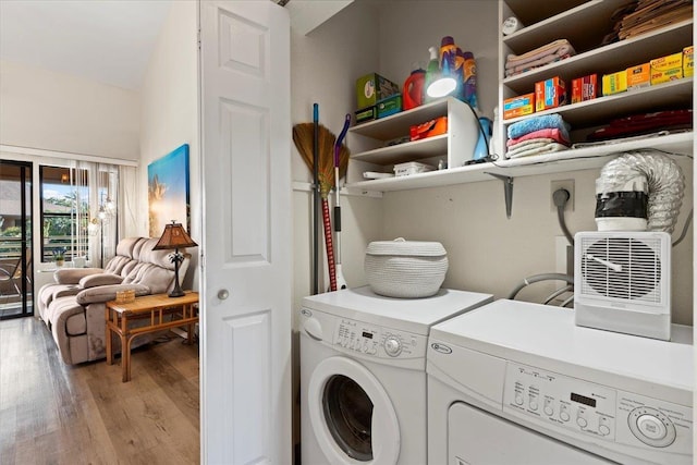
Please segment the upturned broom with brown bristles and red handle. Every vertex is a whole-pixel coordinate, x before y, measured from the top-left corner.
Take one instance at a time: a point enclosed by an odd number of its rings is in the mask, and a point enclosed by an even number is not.
[[[334,144],[337,136],[323,125],[317,126],[318,131],[318,162],[317,174],[319,194],[322,204],[322,223],[325,229],[325,246],[327,248],[327,264],[329,265],[329,289],[337,291],[337,269],[334,264],[334,248],[331,235],[331,220],[329,217],[329,193],[335,184],[334,180]],[[297,151],[303,157],[305,164],[314,171],[313,139],[315,133],[314,123],[298,123],[293,126],[293,142]],[[348,168],[350,151],[345,145],[339,150],[339,178],[346,174]]]

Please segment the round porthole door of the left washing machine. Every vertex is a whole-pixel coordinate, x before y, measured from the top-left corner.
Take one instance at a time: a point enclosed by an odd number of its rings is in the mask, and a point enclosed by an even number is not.
[[[363,365],[322,360],[307,387],[309,419],[332,464],[396,464],[400,426],[390,396]]]

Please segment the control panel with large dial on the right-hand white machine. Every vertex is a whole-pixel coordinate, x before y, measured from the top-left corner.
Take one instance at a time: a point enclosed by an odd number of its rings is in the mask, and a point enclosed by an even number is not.
[[[692,450],[692,408],[509,362],[503,409],[603,441]]]

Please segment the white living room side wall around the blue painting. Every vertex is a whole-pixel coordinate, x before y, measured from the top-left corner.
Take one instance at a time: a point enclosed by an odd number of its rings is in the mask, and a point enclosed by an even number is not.
[[[182,144],[189,145],[191,235],[200,240],[200,142],[198,134],[197,7],[195,1],[172,2],[150,57],[142,88],[140,166],[138,171],[138,235],[148,235],[147,168]],[[184,221],[184,219],[182,219]],[[197,249],[185,289],[197,289]]]

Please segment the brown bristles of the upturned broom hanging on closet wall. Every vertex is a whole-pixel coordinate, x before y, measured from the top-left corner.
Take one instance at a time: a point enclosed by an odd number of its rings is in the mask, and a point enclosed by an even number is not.
[[[318,127],[318,164],[317,170],[319,173],[319,185],[322,196],[329,195],[329,192],[334,187],[334,144],[337,143],[337,136],[323,125]],[[303,161],[310,170],[314,171],[313,160],[313,140],[315,133],[314,123],[298,123],[293,126],[293,142],[297,151],[301,154]],[[346,175],[348,169],[348,158],[351,151],[345,144],[341,145],[339,150],[339,178]]]

